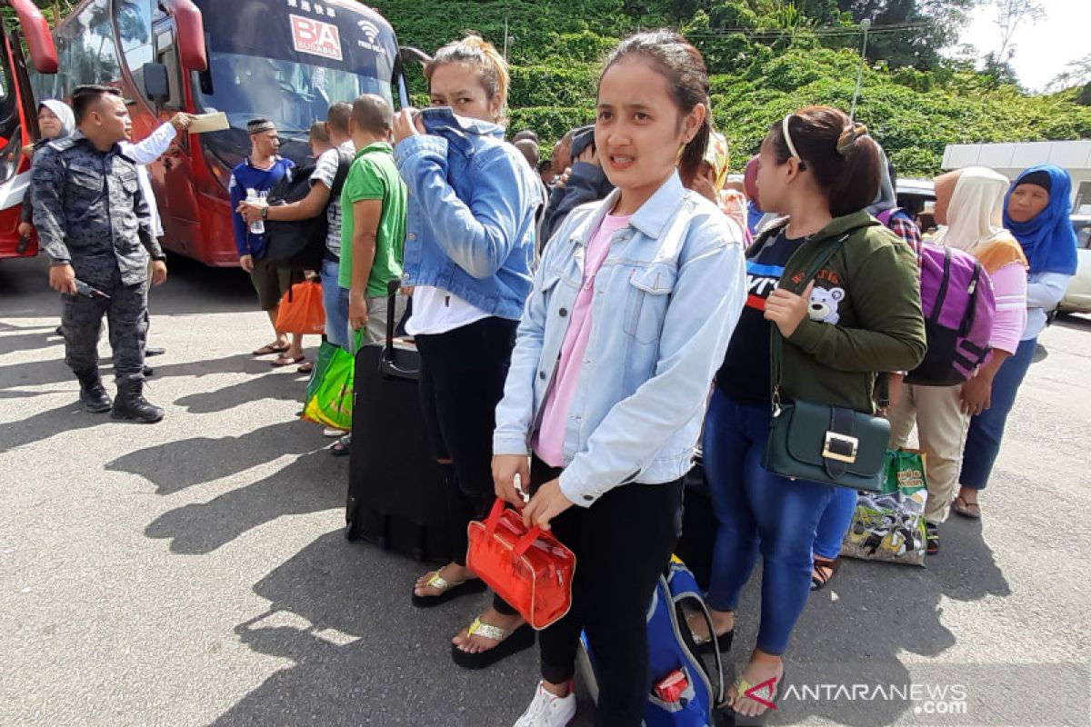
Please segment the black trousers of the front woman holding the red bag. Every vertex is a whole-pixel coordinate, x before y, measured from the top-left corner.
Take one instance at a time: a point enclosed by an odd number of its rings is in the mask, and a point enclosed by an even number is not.
[[[559,476],[537,457],[530,480]],[[638,727],[651,690],[647,613],[656,583],[682,526],[682,480],[614,487],[589,508],[553,519],[553,534],[576,555],[572,610],[538,634],[542,678],[563,683],[575,674],[579,632],[595,654],[599,704],[595,724]]]

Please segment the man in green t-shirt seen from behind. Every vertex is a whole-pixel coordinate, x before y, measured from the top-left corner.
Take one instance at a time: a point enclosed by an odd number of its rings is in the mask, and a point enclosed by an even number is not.
[[[341,189],[341,258],[338,284],[349,289],[349,339],[363,329],[365,341],[386,337],[386,284],[401,278],[406,235],[406,185],[387,143],[394,110],[380,96],[352,104],[349,133],[356,159]],[[400,318],[405,298],[397,296]]]

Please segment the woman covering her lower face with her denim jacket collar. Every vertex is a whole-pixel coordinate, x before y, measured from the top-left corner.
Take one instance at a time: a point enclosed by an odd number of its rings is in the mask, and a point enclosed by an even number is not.
[[[394,120],[394,158],[409,189],[403,283],[413,289],[406,330],[421,356],[420,392],[451,487],[454,560],[422,575],[413,605],[484,585],[466,568],[466,526],[492,502],[494,410],[530,291],[540,182],[504,142],[507,64],[470,36],[425,68],[433,108]],[[453,640],[452,657],[482,668],[533,644],[500,598]]]

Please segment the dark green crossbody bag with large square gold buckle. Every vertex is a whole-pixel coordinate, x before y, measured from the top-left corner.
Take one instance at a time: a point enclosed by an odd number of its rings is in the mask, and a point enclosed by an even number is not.
[[[841,238],[830,243],[811,265],[793,292],[805,290],[811,279],[840,247]],[[780,401],[784,339],[770,323],[770,379],[772,381],[772,421],[765,443],[762,467],[790,480],[820,482],[877,493],[882,488],[883,462],[886,459],[890,423],[882,416],[858,412],[847,407],[820,404],[796,399]],[[879,405],[888,399],[887,379],[879,375]]]

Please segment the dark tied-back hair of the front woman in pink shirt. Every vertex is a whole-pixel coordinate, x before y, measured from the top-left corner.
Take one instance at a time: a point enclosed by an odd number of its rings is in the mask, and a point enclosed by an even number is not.
[[[705,69],[705,59],[702,58],[699,50],[674,31],[651,31],[637,33],[622,40],[621,45],[607,57],[602,73],[630,56],[645,58],[656,72],[667,80],[667,87],[674,97],[674,105],[681,117],[693,111],[698,105],[705,107],[705,120],[679,154],[679,175],[682,178],[682,184],[688,187],[700,172],[700,162],[705,158],[711,131],[708,71]],[[601,80],[600,74],[600,83]],[[681,119],[679,124],[681,125]]]

